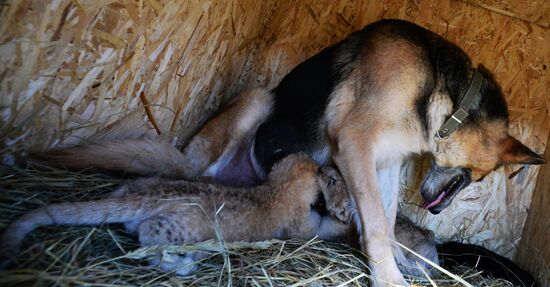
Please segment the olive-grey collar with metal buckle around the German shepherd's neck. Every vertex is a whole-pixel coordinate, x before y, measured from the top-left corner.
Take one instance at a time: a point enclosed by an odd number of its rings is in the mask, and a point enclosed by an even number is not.
[[[455,132],[462,122],[470,116],[469,111],[472,109],[478,96],[480,96],[480,89],[484,81],[485,78],[481,72],[478,69],[475,69],[470,86],[468,86],[468,90],[466,91],[464,98],[460,101],[460,106],[435,133],[434,137],[436,141],[448,138],[449,135]]]

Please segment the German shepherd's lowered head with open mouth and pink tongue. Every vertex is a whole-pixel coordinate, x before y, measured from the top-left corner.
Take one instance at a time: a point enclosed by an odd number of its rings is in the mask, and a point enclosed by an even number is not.
[[[437,214],[471,182],[506,164],[542,164],[544,158],[508,134],[506,102],[492,75],[486,79],[477,110],[467,122],[437,142],[434,161],[421,186],[424,208]]]

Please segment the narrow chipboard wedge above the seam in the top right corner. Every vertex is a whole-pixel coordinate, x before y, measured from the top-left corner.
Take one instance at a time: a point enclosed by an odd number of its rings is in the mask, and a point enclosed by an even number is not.
[[[546,28],[550,27],[550,1],[548,0],[466,0],[466,2]]]

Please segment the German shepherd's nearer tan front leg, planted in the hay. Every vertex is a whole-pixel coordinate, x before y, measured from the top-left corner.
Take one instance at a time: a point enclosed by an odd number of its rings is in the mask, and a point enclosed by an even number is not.
[[[357,206],[363,226],[361,248],[370,257],[372,283],[374,286],[407,286],[388,240],[388,221],[378,191],[372,140],[372,133],[364,127],[341,128],[333,141],[337,145],[333,160]]]

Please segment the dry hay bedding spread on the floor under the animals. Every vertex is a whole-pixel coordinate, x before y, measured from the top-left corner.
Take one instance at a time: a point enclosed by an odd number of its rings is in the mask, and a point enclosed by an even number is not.
[[[60,169],[2,166],[0,228],[24,212],[50,202],[105,197],[119,179]],[[148,266],[155,252],[205,250],[197,272],[176,277]],[[208,241],[186,246],[139,248],[121,226],[43,227],[25,240],[15,263],[0,271],[2,286],[366,286],[366,258],[345,245],[319,240],[253,243]],[[462,269],[474,286],[512,286]],[[426,278],[410,278],[430,285]],[[437,286],[463,286],[441,275]]]

